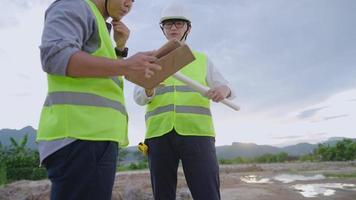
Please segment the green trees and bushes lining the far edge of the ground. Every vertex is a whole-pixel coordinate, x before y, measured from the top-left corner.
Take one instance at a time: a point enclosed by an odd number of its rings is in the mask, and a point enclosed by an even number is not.
[[[4,147],[0,143],[0,185],[16,180],[39,180],[47,177],[47,172],[39,166],[37,150],[26,148],[28,136],[17,142],[10,138],[11,145]],[[119,150],[119,162],[125,160],[129,152]],[[119,164],[117,171],[147,169],[147,156],[140,152],[133,152],[136,162],[126,165]],[[255,158],[236,157],[234,159],[220,159],[220,164],[246,164],[246,163],[281,163],[299,161],[351,161],[356,160],[356,140],[344,139],[335,145],[319,144],[312,153],[302,156],[291,156],[285,152],[277,154],[264,154]]]

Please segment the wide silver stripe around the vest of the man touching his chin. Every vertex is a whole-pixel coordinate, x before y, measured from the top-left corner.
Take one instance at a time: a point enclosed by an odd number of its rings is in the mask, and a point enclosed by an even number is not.
[[[71,104],[113,108],[127,116],[126,108],[120,102],[95,94],[81,92],[51,92],[47,95],[44,106]]]

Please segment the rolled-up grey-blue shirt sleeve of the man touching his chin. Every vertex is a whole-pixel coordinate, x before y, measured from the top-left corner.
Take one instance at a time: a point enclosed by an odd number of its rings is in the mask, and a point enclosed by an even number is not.
[[[93,31],[93,16],[84,1],[59,1],[48,8],[40,45],[42,69],[66,75],[70,57],[82,50]]]

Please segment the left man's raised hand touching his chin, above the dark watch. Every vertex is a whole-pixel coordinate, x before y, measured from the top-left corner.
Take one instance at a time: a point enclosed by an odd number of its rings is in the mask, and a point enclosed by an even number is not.
[[[116,42],[116,47],[120,50],[124,50],[126,41],[130,36],[130,30],[124,23],[118,20],[113,20],[111,24],[114,29],[114,40]]]

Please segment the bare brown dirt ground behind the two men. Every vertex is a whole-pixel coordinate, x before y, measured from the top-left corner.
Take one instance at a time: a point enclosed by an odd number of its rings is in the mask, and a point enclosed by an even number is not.
[[[355,200],[356,177],[324,177],[323,174],[356,174],[356,162],[283,163],[220,166],[221,197],[223,200]],[[252,175],[252,176],[251,176]],[[279,176],[301,177],[299,180],[277,180]],[[255,177],[245,182],[243,177]],[[307,177],[307,178],[305,178]],[[311,180],[308,177],[312,177]],[[321,177],[321,178],[320,178]],[[255,181],[255,182],[254,182]],[[260,182],[259,182],[260,181]],[[348,184],[346,188],[327,188],[327,195],[304,197],[296,185]],[[0,187],[1,200],[49,199],[50,182],[19,181]],[[332,191],[333,190],[333,191]],[[148,171],[123,172],[116,175],[113,200],[151,200]],[[179,172],[177,200],[191,200],[184,174]]]

